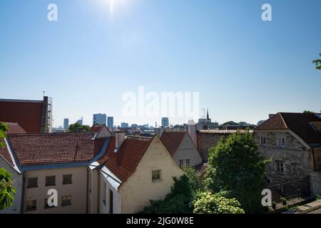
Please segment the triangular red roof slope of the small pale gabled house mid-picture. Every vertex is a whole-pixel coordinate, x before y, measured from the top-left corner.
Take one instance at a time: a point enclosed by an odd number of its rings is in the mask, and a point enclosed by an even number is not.
[[[164,131],[161,136],[161,141],[163,145],[165,145],[166,149],[170,153],[170,155],[174,155],[178,147],[180,146],[180,142],[182,142],[186,131]]]

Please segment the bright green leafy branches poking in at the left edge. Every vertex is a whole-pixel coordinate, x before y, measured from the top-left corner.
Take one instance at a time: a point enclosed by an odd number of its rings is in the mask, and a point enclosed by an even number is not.
[[[5,123],[0,123],[0,147],[4,147],[3,139],[6,138],[6,132],[9,132],[9,128]],[[14,201],[14,182],[11,180],[11,173],[0,168],[0,210],[11,207]]]

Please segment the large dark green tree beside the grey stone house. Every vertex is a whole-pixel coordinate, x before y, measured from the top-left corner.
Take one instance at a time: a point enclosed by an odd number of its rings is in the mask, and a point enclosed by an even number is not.
[[[211,192],[228,191],[247,213],[262,212],[261,191],[268,160],[258,153],[258,145],[248,130],[227,139],[220,138],[210,150],[205,186]]]

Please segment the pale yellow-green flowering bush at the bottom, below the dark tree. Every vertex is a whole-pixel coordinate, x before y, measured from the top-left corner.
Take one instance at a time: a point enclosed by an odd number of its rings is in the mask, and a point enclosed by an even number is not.
[[[195,214],[244,214],[240,208],[240,202],[236,199],[228,199],[220,194],[203,192],[194,202]]]

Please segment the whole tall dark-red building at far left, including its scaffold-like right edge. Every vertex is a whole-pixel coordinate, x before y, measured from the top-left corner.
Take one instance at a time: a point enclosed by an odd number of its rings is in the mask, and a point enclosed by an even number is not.
[[[0,99],[0,121],[19,123],[27,133],[50,133],[52,100]]]

